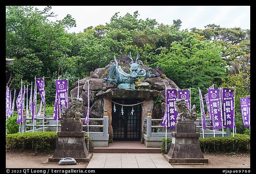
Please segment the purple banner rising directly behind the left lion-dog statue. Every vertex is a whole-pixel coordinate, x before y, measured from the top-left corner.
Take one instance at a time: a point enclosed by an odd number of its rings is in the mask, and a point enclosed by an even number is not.
[[[56,80],[55,85],[59,109],[57,113],[59,120],[61,120],[62,118],[60,118],[60,113],[62,111],[62,105],[64,104],[64,106],[68,108],[68,81],[67,79]]]

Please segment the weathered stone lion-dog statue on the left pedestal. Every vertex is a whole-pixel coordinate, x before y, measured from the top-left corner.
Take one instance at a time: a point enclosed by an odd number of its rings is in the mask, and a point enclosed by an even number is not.
[[[83,107],[83,99],[82,98],[73,98],[73,101],[71,103],[71,106],[66,108],[65,105],[62,105],[61,110],[61,118],[66,120],[81,120],[81,110]]]

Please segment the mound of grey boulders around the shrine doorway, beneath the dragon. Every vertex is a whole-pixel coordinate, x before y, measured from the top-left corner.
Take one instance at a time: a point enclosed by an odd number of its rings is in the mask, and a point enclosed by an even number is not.
[[[90,95],[90,118],[102,118],[104,115],[104,109],[111,111],[112,98],[140,99],[145,101],[143,107],[151,108],[150,110],[152,112],[152,118],[162,118],[165,110],[165,85],[171,88],[178,88],[178,86],[171,79],[166,77],[163,70],[157,66],[155,69],[151,70],[151,73],[155,74],[155,77],[147,78],[145,82],[143,82],[143,78],[139,78],[139,81],[136,81],[135,83],[135,89],[119,89],[117,88],[116,83],[103,81],[103,78],[108,78],[110,66],[114,62],[114,60],[111,60],[107,66],[103,68],[97,68],[96,70],[92,71],[90,73],[90,77],[84,77],[83,79],[80,79],[79,89],[78,81],[76,81],[76,87],[70,91],[71,98],[77,97],[77,91],[79,91],[79,97],[84,101],[84,105],[81,111],[81,113],[84,113],[84,116],[81,116],[81,118],[85,118],[87,112],[88,82]],[[124,70],[126,73],[130,73],[129,67],[131,60],[128,58],[128,55],[120,56],[120,58],[117,58],[117,62],[118,65],[121,66],[122,70]],[[141,60],[138,60],[138,62],[140,63],[140,68],[148,71],[148,66],[143,65]],[[160,100],[157,97],[160,97]],[[108,104],[106,103],[107,101]],[[147,101],[151,101],[150,106],[145,105],[148,103]],[[145,115],[146,112],[147,111],[145,111]],[[110,133],[109,142],[111,142],[112,137],[111,119],[112,118],[110,112],[110,124],[108,130]]]

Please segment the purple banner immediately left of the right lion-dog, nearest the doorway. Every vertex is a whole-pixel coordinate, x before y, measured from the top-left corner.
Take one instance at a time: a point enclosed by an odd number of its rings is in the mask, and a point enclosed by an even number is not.
[[[167,126],[168,129],[175,128],[176,118],[178,115],[178,112],[176,111],[176,107],[175,107],[175,101],[177,98],[176,93],[177,93],[176,89],[166,89],[165,91],[166,109],[163,116],[163,120],[160,124],[163,125],[164,127]]]

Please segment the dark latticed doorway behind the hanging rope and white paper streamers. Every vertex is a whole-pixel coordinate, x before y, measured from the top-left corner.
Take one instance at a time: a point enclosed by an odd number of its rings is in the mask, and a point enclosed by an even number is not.
[[[140,108],[139,99],[117,99],[112,103],[113,140],[140,140]],[[117,104],[118,103],[118,104]],[[120,104],[137,104],[135,106],[122,106]],[[114,106],[116,111],[114,111]],[[131,114],[133,108],[133,115]]]

